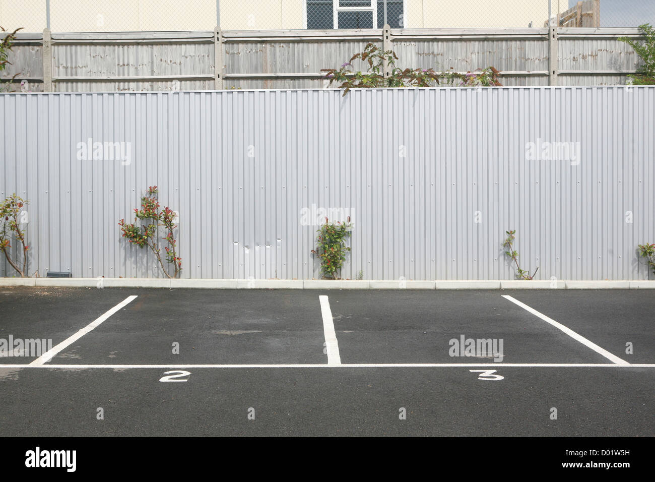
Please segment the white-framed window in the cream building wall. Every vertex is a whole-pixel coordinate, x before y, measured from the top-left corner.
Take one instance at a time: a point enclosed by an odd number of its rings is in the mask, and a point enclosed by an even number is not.
[[[386,0],[386,22],[403,28],[403,0]],[[375,19],[375,25],[373,20]],[[307,0],[307,28],[383,28],[384,0]]]

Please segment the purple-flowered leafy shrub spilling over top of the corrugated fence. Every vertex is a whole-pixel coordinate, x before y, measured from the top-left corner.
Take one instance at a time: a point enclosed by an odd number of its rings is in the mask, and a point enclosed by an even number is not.
[[[352,62],[362,60],[368,67],[367,71],[354,71]],[[398,55],[393,50],[383,50],[373,43],[367,43],[364,51],[354,54],[348,62],[338,69],[321,69],[326,72],[325,79],[329,79],[329,85],[338,83],[343,95],[350,89],[369,89],[371,87],[432,87],[439,85],[443,78],[450,85],[461,87],[493,86],[501,85],[498,81],[498,70],[488,67],[485,70],[478,69],[475,72],[458,73],[453,71],[438,72],[429,69],[401,69],[396,66]],[[384,65],[389,71],[384,76]]]

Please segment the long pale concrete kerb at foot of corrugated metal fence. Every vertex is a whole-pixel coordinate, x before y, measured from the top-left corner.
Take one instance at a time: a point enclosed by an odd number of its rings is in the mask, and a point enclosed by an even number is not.
[[[3,278],[3,287],[176,288],[176,289],[655,289],[650,280],[360,280],[360,279],[153,279]]]

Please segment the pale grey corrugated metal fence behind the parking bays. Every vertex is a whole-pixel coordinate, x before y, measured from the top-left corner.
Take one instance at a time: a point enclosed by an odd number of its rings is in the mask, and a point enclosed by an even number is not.
[[[0,196],[29,199],[29,273],[159,277],[117,226],[157,185],[183,277],[320,277],[324,213],[352,216],[348,278],[512,279],[510,229],[538,279],[648,277],[655,87],[341,93],[0,94]]]

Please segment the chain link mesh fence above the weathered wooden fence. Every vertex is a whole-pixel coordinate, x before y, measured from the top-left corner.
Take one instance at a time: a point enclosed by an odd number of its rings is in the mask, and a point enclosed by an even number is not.
[[[0,0],[24,32],[636,27],[655,0]]]

